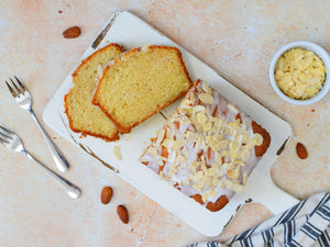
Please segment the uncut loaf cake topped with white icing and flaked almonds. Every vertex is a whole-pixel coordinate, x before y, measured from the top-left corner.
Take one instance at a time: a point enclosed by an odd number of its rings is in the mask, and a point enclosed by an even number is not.
[[[271,136],[197,80],[141,162],[209,211],[221,210],[265,154]]]

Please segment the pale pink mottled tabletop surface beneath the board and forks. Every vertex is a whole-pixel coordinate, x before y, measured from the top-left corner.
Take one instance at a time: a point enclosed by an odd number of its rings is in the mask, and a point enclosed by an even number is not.
[[[300,199],[330,190],[330,96],[309,106],[290,105],[274,93],[267,78],[273,54],[290,41],[307,40],[330,50],[329,1],[1,1],[1,80],[9,72],[21,77],[41,116],[116,10],[146,20],[292,124],[293,141],[272,171],[280,188]],[[62,32],[73,25],[81,27],[81,35],[63,38]],[[29,113],[15,104],[4,83],[0,89],[0,124],[55,169]],[[48,133],[72,164],[65,177],[84,194],[68,199],[33,162],[0,145],[0,246],[185,246],[209,239]],[[305,160],[296,155],[297,142],[308,149]],[[114,189],[108,205],[100,203],[103,186]],[[129,209],[128,225],[117,217],[118,204]],[[215,239],[227,239],[270,216],[263,205],[249,203]]]

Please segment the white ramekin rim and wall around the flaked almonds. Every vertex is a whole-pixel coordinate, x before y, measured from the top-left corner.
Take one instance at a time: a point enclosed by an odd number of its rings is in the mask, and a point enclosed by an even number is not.
[[[284,54],[286,50],[292,49],[292,48],[305,48],[308,50],[311,50],[314,53],[316,53],[324,63],[326,66],[326,70],[327,70],[327,75],[326,75],[326,81],[323,87],[321,88],[321,90],[312,98],[308,99],[308,100],[295,100],[292,99],[289,97],[287,97],[286,94],[284,94],[280,89],[278,88],[276,81],[275,81],[275,75],[274,75],[274,70],[275,70],[275,65],[278,60],[278,58],[282,56],[282,54]],[[298,105],[306,105],[306,104],[312,104],[317,101],[319,101],[320,99],[322,99],[327,92],[330,89],[330,56],[329,54],[319,45],[314,44],[311,42],[307,42],[307,41],[297,41],[297,42],[292,42],[289,44],[286,44],[285,46],[283,46],[280,49],[278,49],[276,52],[276,54],[274,55],[272,61],[271,61],[271,67],[270,67],[270,79],[271,79],[271,85],[274,89],[274,91],[277,93],[277,96],[279,96],[283,100],[292,103],[292,104],[298,104]]]

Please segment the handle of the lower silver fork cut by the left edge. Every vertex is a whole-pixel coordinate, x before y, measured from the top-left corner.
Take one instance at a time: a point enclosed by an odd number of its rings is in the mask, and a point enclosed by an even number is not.
[[[29,151],[22,150],[24,155],[26,155],[31,160],[35,161],[37,165],[40,165],[41,168],[43,168],[48,175],[51,175],[57,182],[59,182],[65,189],[68,195],[73,199],[77,199],[80,197],[81,191],[80,189],[75,186],[74,183],[69,182],[65,178],[61,177],[56,172],[54,172],[52,169],[43,165],[41,161],[38,161],[36,158],[34,158]]]

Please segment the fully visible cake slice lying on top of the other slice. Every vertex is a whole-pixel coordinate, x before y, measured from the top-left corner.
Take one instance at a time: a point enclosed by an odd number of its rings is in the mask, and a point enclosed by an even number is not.
[[[175,47],[143,46],[107,67],[92,102],[121,133],[184,97],[193,82]]]

